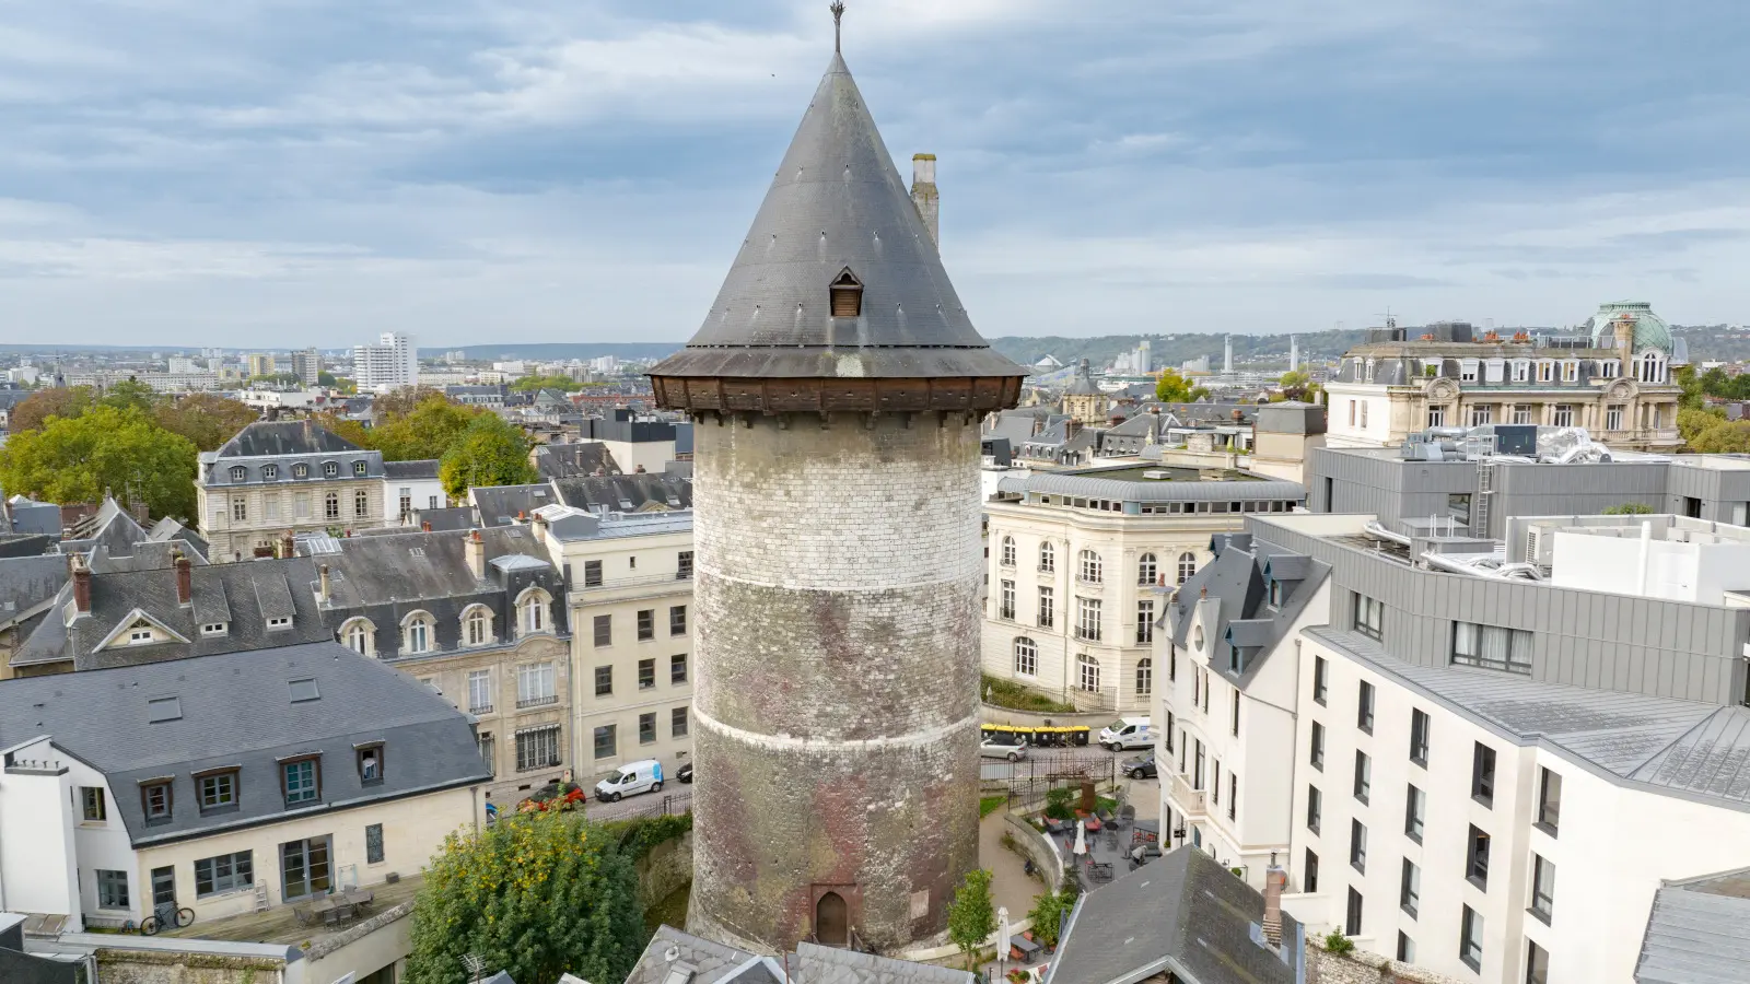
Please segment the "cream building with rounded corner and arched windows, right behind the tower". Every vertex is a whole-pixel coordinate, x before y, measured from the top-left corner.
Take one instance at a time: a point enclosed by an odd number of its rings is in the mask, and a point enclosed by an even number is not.
[[[1237,469],[1085,467],[1003,476],[985,501],[984,671],[1078,707],[1157,702],[1158,585],[1183,585],[1209,539],[1284,513],[1293,481]]]

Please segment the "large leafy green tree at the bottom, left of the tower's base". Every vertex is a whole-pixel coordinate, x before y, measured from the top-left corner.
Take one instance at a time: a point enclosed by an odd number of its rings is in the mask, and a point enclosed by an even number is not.
[[[632,858],[578,812],[452,833],[413,909],[410,984],[464,984],[464,954],[516,980],[625,980],[644,949]]]

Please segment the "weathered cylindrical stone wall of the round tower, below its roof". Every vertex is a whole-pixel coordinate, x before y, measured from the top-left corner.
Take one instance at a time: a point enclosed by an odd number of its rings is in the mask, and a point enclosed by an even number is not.
[[[878,949],[947,924],[978,856],[976,462],[954,415],[696,429],[695,930],[789,947],[826,889]]]

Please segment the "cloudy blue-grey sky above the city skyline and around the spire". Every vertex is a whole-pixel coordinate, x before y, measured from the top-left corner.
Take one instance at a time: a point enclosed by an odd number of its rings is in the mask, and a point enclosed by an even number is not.
[[[681,341],[826,0],[0,0],[0,341]],[[1750,320],[1743,0],[850,0],[987,334]]]

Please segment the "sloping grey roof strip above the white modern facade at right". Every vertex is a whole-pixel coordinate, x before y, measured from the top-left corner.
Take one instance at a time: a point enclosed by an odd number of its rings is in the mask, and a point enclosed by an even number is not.
[[[1566,753],[1619,784],[1750,811],[1750,707],[1421,667],[1356,632],[1306,632],[1508,741]]]

